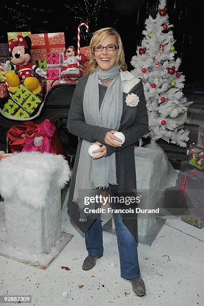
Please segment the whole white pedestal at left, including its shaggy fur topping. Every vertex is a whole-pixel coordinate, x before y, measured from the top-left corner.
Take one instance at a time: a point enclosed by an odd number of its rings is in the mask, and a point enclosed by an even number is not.
[[[61,237],[61,188],[70,179],[68,162],[49,153],[14,153],[1,161],[0,172],[8,249],[48,254]]]

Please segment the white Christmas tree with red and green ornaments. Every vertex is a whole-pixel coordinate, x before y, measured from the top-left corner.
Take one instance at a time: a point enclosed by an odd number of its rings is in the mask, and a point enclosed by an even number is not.
[[[135,68],[131,73],[143,81],[151,140],[162,138],[185,147],[189,131],[181,125],[192,101],[183,97],[185,77],[178,72],[180,58],[174,59],[173,25],[168,23],[165,5],[166,0],[160,0],[156,18],[145,20],[144,38],[132,57]]]

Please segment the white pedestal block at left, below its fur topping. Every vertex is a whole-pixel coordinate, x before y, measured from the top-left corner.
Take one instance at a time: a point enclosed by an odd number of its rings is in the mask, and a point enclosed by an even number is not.
[[[30,254],[48,253],[61,236],[61,189],[53,175],[46,206],[34,208],[18,198],[5,198],[7,243]]]

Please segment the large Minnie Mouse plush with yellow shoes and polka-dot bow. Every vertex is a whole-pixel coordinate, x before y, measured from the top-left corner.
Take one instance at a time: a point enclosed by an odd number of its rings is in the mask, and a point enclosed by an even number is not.
[[[17,39],[9,40],[9,51],[14,66],[10,60],[2,66],[5,70],[18,70],[18,75],[14,72],[7,73],[7,82],[11,92],[15,92],[21,84],[20,79],[24,80],[24,86],[34,94],[41,92],[42,87],[36,78],[35,72],[41,77],[46,78],[46,72],[31,62],[31,38],[29,36],[18,35]]]

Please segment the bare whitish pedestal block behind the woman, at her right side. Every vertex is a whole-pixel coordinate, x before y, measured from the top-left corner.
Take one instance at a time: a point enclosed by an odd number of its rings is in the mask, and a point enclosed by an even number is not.
[[[134,154],[137,196],[141,194],[138,207],[156,209],[158,208],[162,153],[150,148],[135,147]],[[156,216],[158,216],[156,213],[138,213],[138,235],[147,235],[151,225],[156,223]]]

